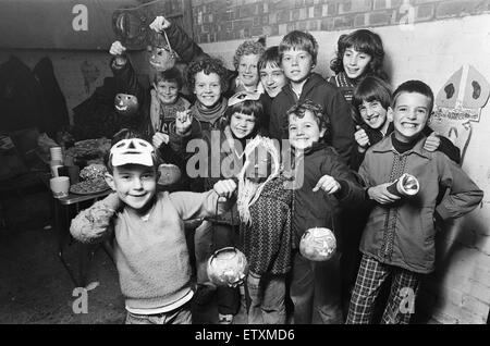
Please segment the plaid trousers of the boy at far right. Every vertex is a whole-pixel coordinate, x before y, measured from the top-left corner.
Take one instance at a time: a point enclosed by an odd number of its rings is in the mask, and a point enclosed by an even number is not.
[[[348,306],[346,324],[371,323],[376,298],[382,283],[392,275],[392,284],[382,324],[407,324],[414,313],[420,274],[383,264],[363,255],[356,284]]]

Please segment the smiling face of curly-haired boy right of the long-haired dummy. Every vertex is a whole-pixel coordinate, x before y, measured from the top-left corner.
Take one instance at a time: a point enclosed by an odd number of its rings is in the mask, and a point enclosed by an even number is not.
[[[318,120],[310,110],[306,110],[303,118],[289,115],[290,143],[296,149],[306,149],[320,140],[326,128],[320,128]]]

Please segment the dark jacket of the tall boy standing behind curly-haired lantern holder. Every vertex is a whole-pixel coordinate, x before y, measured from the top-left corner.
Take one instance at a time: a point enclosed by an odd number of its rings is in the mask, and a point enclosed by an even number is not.
[[[291,84],[285,85],[273,99],[269,133],[279,140],[287,138],[287,110],[298,100],[310,99],[320,104],[323,113],[330,121],[328,137],[331,146],[339,152],[344,162],[350,162],[352,147],[354,146],[354,122],[351,116],[351,107],[340,90],[324,81],[319,74],[311,73],[303,86],[299,99],[293,91]]]

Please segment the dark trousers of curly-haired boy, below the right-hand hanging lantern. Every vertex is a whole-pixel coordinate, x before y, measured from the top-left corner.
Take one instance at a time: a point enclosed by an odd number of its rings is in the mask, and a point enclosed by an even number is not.
[[[343,323],[340,254],[324,262],[294,255],[291,282],[295,324]]]

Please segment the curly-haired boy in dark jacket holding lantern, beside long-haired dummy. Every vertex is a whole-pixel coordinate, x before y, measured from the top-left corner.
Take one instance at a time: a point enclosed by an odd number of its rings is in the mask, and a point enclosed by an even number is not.
[[[286,116],[295,157],[293,243],[298,248],[303,234],[313,227],[328,227],[339,239],[340,208],[362,201],[364,190],[335,150],[320,143],[328,123],[319,104],[299,101]],[[291,283],[295,323],[343,323],[339,261],[339,254],[314,262],[296,251]]]

